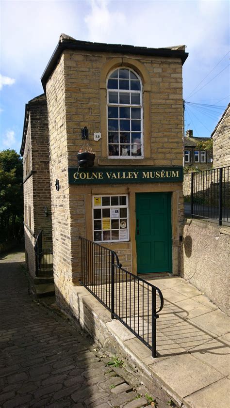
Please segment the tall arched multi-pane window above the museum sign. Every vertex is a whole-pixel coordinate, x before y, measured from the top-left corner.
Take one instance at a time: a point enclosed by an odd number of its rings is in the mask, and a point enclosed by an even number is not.
[[[131,69],[110,74],[107,109],[109,157],[143,157],[142,82]]]

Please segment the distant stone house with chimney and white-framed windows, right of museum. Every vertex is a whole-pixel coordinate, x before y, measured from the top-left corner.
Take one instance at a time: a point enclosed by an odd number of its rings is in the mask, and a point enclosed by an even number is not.
[[[198,142],[209,141],[210,138],[193,137],[193,130],[186,130],[184,138],[184,167],[186,170],[208,170],[213,167],[213,149],[197,147]]]

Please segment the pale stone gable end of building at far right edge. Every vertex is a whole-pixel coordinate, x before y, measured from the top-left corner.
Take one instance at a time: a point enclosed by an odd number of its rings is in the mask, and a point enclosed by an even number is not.
[[[230,104],[211,134],[214,168],[230,166]]]

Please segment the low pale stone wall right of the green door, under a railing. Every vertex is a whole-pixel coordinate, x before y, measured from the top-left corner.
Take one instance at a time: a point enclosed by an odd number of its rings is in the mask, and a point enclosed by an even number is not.
[[[202,220],[184,226],[183,277],[230,314],[230,227]]]

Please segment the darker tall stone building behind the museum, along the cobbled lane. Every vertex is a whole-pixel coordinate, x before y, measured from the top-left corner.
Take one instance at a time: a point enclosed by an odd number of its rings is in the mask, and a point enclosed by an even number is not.
[[[20,154],[24,168],[25,252],[28,269],[34,278],[37,268],[34,245],[39,233],[40,250],[51,252],[52,248],[49,129],[45,94],[26,104]]]

